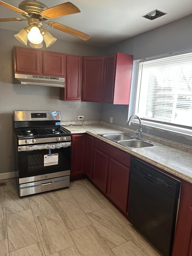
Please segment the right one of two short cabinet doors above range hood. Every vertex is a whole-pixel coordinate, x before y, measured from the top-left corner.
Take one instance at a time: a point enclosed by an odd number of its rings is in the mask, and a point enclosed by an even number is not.
[[[43,51],[43,74],[47,76],[64,77],[65,60],[66,55],[64,53]]]

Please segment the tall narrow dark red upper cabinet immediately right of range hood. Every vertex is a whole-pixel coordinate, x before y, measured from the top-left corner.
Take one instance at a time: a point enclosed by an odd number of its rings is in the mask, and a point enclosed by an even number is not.
[[[67,55],[65,87],[60,88],[60,100],[81,101],[82,57]]]

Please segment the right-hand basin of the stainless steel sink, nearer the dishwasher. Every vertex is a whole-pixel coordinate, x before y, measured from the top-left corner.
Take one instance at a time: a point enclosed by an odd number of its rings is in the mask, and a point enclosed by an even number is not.
[[[119,140],[118,143],[122,146],[125,146],[129,149],[141,149],[146,147],[157,147],[163,146],[161,144],[151,142],[151,141],[143,141],[143,140]]]

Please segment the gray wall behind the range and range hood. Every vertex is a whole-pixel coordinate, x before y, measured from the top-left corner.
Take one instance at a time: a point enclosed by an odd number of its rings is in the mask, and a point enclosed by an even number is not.
[[[0,29],[0,173],[14,171],[14,110],[60,110],[62,120],[77,120],[78,115],[84,115],[85,120],[101,119],[101,103],[60,101],[59,88],[13,85],[12,48],[24,46],[14,34],[16,32]],[[61,40],[42,49],[76,55],[104,53],[100,47]]]

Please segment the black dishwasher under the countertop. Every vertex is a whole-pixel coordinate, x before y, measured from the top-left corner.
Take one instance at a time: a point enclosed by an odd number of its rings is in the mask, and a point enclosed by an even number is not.
[[[131,160],[128,220],[164,256],[171,256],[181,182]]]

